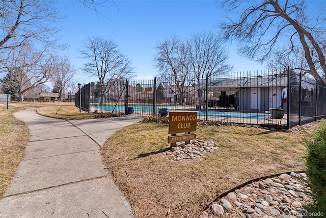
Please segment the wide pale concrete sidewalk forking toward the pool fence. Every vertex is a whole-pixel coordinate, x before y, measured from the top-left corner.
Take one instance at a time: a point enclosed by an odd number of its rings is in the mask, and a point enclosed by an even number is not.
[[[15,113],[30,140],[0,217],[134,217],[130,205],[102,164],[99,145],[140,117],[53,119],[35,108]]]

